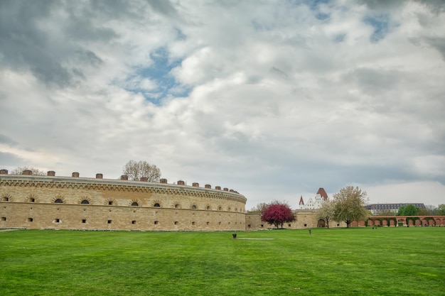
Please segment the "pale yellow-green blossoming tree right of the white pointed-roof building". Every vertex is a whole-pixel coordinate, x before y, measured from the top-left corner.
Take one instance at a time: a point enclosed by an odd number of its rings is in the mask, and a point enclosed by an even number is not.
[[[335,202],[334,220],[344,221],[349,228],[352,221],[359,221],[368,216],[365,204],[368,201],[368,194],[358,187],[348,186],[333,194]]]

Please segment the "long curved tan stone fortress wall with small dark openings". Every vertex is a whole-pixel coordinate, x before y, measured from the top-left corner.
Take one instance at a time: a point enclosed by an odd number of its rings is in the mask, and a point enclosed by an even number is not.
[[[131,231],[245,230],[247,199],[227,188],[0,170],[0,228]]]

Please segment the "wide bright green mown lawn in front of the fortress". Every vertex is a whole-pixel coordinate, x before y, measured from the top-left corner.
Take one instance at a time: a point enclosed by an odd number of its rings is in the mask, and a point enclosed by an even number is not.
[[[0,295],[445,295],[445,227],[237,236],[1,231]]]

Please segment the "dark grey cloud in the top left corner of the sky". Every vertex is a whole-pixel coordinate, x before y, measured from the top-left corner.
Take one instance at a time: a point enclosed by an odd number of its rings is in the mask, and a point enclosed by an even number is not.
[[[69,11],[58,2],[2,1],[0,5],[0,63],[13,70],[31,70],[46,84],[66,87],[85,78],[82,70],[70,67],[73,53],[81,53],[90,64],[100,65],[102,60],[91,50],[76,50],[78,41],[109,41],[117,37],[112,29],[93,26],[87,13],[70,13],[65,23],[56,23],[58,11]],[[50,35],[41,24],[58,26],[60,35]]]

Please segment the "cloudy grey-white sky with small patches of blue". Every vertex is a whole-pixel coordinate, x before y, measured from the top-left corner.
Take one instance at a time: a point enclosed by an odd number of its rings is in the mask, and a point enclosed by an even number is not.
[[[445,203],[444,1],[0,1],[0,167]]]

